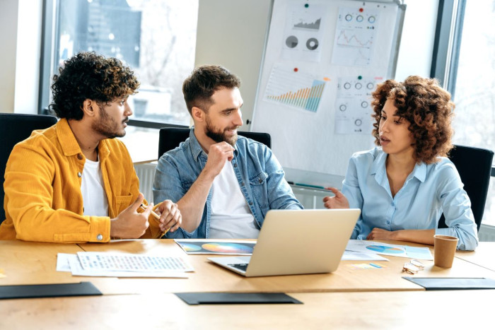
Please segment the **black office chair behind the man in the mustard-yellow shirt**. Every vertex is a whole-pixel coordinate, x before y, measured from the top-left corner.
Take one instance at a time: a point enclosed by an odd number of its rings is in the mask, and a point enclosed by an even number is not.
[[[13,146],[27,139],[35,129],[46,129],[56,123],[56,117],[43,114],[0,114],[0,223],[5,220],[5,166]]]

